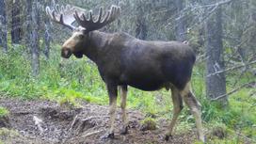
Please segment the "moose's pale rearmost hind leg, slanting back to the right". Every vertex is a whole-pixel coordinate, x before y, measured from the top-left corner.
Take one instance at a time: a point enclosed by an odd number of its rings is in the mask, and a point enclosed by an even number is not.
[[[200,114],[200,103],[196,100],[191,87],[190,83],[188,82],[181,94],[184,98],[185,104],[189,107],[192,115],[196,120],[197,130],[198,130],[198,138],[204,142],[204,135],[202,131],[202,123],[201,123],[201,114]]]

